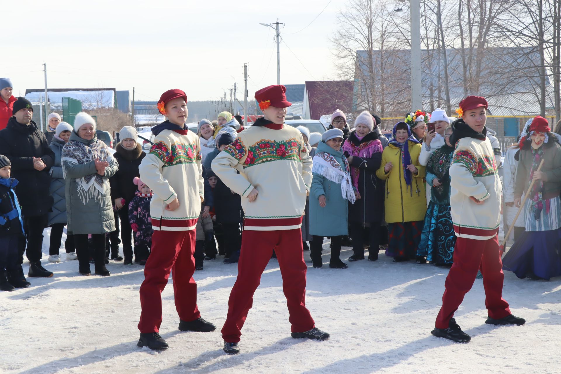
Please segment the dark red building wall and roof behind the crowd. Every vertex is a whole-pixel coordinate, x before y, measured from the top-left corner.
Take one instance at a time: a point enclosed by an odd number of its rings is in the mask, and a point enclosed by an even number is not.
[[[353,81],[307,81],[306,93],[310,105],[310,118],[332,114],[335,109],[352,112]]]

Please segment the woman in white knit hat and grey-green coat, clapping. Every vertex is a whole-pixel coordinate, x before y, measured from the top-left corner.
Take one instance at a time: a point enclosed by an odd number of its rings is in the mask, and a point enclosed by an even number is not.
[[[110,275],[105,267],[105,234],[115,230],[109,178],[119,168],[103,141],[95,135],[95,121],[80,112],[70,140],[62,149],[68,232],[74,236],[80,274],[90,275],[88,234],[94,244],[95,274]]]

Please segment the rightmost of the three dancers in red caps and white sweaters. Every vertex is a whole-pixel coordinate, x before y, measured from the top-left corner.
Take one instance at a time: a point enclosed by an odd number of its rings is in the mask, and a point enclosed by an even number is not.
[[[485,306],[491,325],[523,325],[503,299],[502,263],[499,251],[501,184],[493,147],[486,136],[487,100],[467,96],[459,103],[459,118],[452,123],[450,144],[456,145],[450,164],[450,207],[457,241],[454,264],[446,278],[442,307],[431,333],[459,343],[470,341],[454,320],[477,271],[483,274]]]

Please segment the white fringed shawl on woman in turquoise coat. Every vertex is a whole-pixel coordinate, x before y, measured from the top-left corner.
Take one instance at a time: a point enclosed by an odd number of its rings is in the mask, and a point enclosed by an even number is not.
[[[344,169],[333,155],[323,151],[316,152],[312,160],[314,163],[312,173],[320,174],[333,183],[341,184],[341,195],[343,198],[350,201],[351,204],[355,204],[356,196],[351,183],[349,163],[345,156],[341,155],[341,159],[343,160]]]

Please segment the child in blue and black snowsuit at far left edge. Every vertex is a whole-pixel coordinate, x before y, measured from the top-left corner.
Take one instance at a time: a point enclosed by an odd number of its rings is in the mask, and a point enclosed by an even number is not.
[[[0,289],[13,291],[15,287],[29,287],[19,263],[17,243],[24,234],[20,203],[13,189],[17,179],[10,178],[12,164],[0,155]]]

